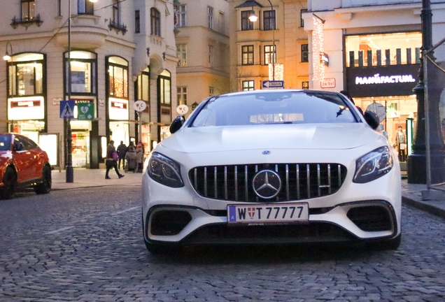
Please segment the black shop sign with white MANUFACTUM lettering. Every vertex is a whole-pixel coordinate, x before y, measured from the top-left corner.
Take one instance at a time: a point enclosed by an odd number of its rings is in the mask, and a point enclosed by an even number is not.
[[[346,68],[346,84],[353,97],[413,94],[420,64]]]

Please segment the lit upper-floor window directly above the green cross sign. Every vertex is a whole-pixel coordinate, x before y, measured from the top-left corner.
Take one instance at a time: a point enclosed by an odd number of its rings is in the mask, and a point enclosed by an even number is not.
[[[68,52],[65,52],[66,94],[68,85]],[[71,93],[96,94],[97,56],[92,52],[71,52]]]

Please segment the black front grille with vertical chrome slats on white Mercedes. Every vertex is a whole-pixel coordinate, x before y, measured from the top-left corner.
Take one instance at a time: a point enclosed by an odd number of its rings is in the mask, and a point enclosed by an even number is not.
[[[253,190],[253,178],[263,170],[275,171],[281,190],[263,199]],[[248,164],[199,166],[189,171],[190,183],[203,197],[225,201],[278,202],[311,199],[337,192],[346,178],[341,164]]]

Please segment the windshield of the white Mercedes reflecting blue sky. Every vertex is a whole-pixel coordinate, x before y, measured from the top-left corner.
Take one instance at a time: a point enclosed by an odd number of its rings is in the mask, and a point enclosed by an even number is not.
[[[253,92],[217,96],[190,127],[249,124],[358,122],[348,103],[332,92]]]

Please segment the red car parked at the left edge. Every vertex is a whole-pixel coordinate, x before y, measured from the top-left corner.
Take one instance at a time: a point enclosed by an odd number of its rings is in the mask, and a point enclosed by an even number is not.
[[[11,199],[15,190],[34,187],[37,194],[51,191],[48,154],[20,134],[0,134],[0,196]]]

